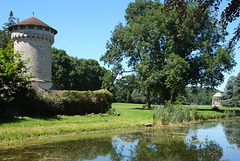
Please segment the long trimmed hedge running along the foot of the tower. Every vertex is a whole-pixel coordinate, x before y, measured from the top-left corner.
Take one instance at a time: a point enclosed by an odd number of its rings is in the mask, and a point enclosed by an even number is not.
[[[0,107],[4,116],[53,116],[105,113],[111,108],[113,95],[102,91],[49,91],[38,93],[31,90],[26,96]]]

